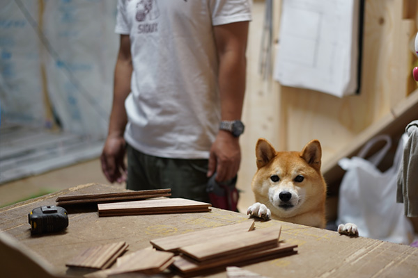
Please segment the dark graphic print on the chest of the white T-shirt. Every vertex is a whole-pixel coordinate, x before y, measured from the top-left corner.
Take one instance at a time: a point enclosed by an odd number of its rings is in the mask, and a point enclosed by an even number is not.
[[[138,25],[138,33],[154,33],[158,31],[158,22],[155,20],[160,17],[157,0],[141,0],[137,3],[137,14],[135,19],[141,22]]]

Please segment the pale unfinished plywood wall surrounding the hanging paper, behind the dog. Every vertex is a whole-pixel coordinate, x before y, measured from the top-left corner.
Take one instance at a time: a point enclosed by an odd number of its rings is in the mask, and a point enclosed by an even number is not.
[[[275,35],[279,30],[280,2],[274,1]],[[299,150],[316,138],[323,147],[323,164],[334,163],[334,158],[353,145],[362,131],[391,115],[392,108],[417,88],[411,65],[416,58],[410,51],[417,31],[415,1],[366,0],[362,90],[359,95],[342,99],[263,81],[257,70],[264,4],[254,1],[249,33],[242,117],[246,131],[240,139],[242,164],[238,178],[238,188],[244,191],[238,206],[241,211],[254,202],[250,184],[256,172],[254,148],[258,138],[267,138],[280,150]]]

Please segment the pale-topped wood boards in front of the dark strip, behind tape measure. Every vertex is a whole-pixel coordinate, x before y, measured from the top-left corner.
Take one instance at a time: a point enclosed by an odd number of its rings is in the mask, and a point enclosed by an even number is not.
[[[210,206],[211,204],[189,199],[166,198],[98,204],[98,211],[99,216],[200,213],[210,211]]]

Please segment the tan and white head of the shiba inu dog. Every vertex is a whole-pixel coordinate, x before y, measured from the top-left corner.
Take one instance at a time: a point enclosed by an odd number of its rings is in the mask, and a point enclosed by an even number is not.
[[[277,218],[289,218],[323,206],[326,185],[320,174],[321,147],[312,140],[301,152],[276,152],[267,140],[256,145],[257,172],[251,183],[256,201]]]

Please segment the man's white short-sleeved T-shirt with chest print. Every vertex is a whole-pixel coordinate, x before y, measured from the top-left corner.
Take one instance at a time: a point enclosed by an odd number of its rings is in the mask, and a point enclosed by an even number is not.
[[[251,20],[251,0],[119,0],[134,72],[125,140],[145,154],[208,158],[219,129],[212,26]]]

